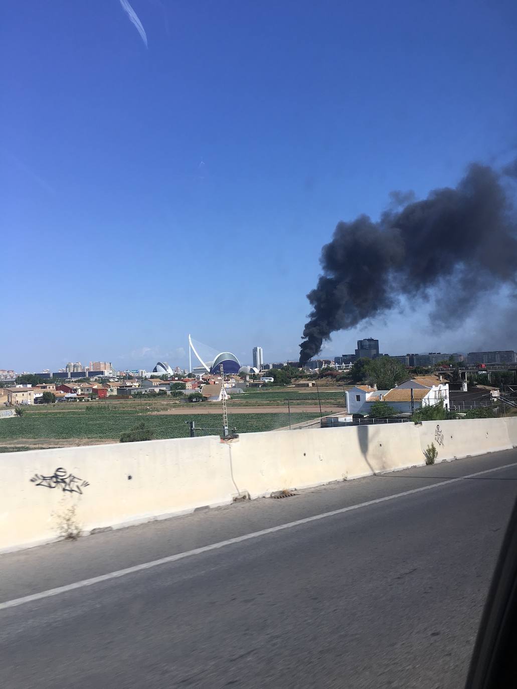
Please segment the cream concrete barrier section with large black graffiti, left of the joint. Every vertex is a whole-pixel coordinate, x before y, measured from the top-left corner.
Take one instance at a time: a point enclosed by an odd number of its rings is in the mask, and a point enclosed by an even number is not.
[[[227,504],[235,492],[219,438],[5,453],[0,466],[2,551]]]

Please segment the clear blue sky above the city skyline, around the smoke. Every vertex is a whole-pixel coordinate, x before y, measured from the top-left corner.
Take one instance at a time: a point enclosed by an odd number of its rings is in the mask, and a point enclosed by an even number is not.
[[[3,3],[0,368],[296,358],[338,220],[515,155],[513,1],[131,6],[147,47],[119,0]],[[323,353],[517,349],[426,313]]]

